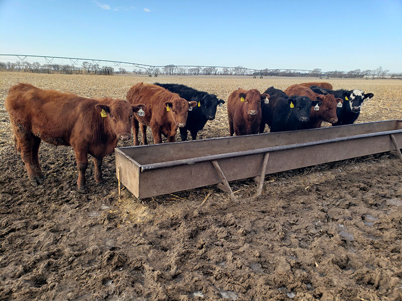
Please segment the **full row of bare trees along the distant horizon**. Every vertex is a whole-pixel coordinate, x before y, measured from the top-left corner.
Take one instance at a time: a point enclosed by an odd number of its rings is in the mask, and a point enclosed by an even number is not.
[[[0,70],[2,71],[19,71],[19,72],[35,72],[35,73],[61,73],[61,74],[103,74],[113,75],[114,73],[134,73],[134,74],[165,74],[165,75],[250,75],[250,76],[294,76],[294,77],[322,77],[322,78],[397,78],[402,79],[402,73],[389,73],[388,69],[378,67],[374,70],[355,69],[348,72],[344,71],[328,71],[323,72],[321,69],[313,69],[312,71],[300,70],[284,70],[284,69],[262,69],[259,71],[251,71],[243,66],[237,67],[190,67],[166,65],[161,68],[138,68],[132,72],[125,68],[119,68],[115,71],[113,67],[99,66],[90,62],[82,62],[81,66],[60,65],[60,64],[44,64],[38,62],[29,63],[27,61],[17,61],[15,63],[0,62]]]

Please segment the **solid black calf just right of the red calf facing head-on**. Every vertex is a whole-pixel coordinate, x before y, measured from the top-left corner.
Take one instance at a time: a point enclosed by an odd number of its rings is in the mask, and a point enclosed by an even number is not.
[[[260,133],[268,124],[271,132],[304,128],[309,121],[311,107],[321,105],[321,100],[312,101],[307,96],[287,96],[283,91],[269,87],[264,93],[269,100],[261,101],[262,119]]]

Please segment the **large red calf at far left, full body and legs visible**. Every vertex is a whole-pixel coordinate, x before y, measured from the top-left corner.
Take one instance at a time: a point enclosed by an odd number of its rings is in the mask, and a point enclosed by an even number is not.
[[[120,99],[84,98],[21,83],[10,88],[5,106],[32,185],[44,178],[38,159],[43,140],[73,147],[82,192],[86,192],[88,154],[93,157],[95,180],[102,183],[103,158],[113,154],[118,140],[131,137],[133,114],[145,108]]]

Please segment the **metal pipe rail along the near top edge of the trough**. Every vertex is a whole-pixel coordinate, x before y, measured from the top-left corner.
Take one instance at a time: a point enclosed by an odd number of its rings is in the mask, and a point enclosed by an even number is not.
[[[306,143],[294,143],[294,144],[287,144],[287,145],[281,145],[281,146],[270,146],[270,147],[265,147],[265,148],[242,150],[241,152],[225,153],[225,154],[204,156],[204,157],[195,157],[195,158],[191,158],[191,159],[182,159],[182,160],[168,161],[168,162],[162,162],[162,163],[153,163],[153,164],[142,165],[141,171],[143,172],[143,171],[153,170],[153,169],[158,169],[158,168],[195,164],[195,163],[199,163],[199,162],[206,162],[206,161],[240,157],[240,156],[256,155],[256,154],[267,153],[267,152],[277,152],[278,150],[292,149],[292,148],[297,148],[297,147],[318,145],[318,144],[331,143],[331,142],[340,142],[340,141],[353,140],[353,139],[359,139],[359,138],[389,135],[389,134],[395,134],[395,133],[402,133],[402,129],[381,131],[381,132],[375,132],[375,133],[358,134],[358,135],[354,135],[354,136],[345,136],[345,137],[338,137],[338,138],[333,138],[333,139],[317,140],[317,141],[311,141],[311,142],[306,142]]]

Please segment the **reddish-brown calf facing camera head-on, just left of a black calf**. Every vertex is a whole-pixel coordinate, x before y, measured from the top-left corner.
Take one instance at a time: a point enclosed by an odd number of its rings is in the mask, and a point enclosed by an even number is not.
[[[237,89],[228,98],[229,132],[239,135],[256,134],[261,123],[261,101],[269,95],[256,89]]]

